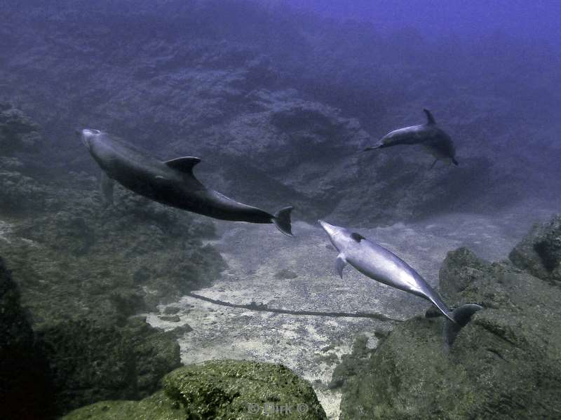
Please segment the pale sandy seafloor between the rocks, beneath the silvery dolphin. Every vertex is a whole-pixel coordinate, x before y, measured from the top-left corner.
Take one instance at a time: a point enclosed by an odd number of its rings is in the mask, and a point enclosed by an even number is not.
[[[466,246],[488,260],[506,259],[530,226],[553,212],[542,203],[520,203],[495,215],[456,213],[377,229],[353,227],[396,252],[436,286],[448,251]],[[327,222],[337,224],[334,219]],[[378,312],[400,319],[422,314],[430,306],[424,299],[375,283],[350,266],[339,278],[334,272],[337,252],[317,224],[295,222],[295,238],[272,225],[217,222],[217,228],[220,239],[210,243],[222,252],[229,268],[212,287],[197,292],[205,297],[295,311]],[[322,356],[335,353],[340,359],[350,353],[357,334],[370,337],[367,345],[374,348],[374,330],[393,327],[370,318],[234,309],[193,297],[169,306],[180,307],[179,323],[163,321],[158,313],[148,314],[148,321],[164,330],[184,323],[193,328],[179,339],[183,363],[222,358],[282,363],[311,381],[329,419],[339,417],[341,392],[327,388],[335,365],[325,363]],[[325,351],[327,346],[332,348]]]

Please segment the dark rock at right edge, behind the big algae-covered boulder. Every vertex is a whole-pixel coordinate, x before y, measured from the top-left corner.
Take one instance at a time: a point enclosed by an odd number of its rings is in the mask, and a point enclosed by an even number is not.
[[[508,258],[533,276],[561,285],[561,215],[535,224]]]

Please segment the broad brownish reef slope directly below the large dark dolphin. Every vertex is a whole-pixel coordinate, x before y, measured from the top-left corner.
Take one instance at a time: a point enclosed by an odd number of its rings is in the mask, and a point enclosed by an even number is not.
[[[210,284],[224,269],[219,252],[201,241],[213,232],[209,222],[121,188],[106,209],[95,190],[46,191],[43,211],[15,219],[11,243],[0,243],[35,323],[82,317],[120,323]]]

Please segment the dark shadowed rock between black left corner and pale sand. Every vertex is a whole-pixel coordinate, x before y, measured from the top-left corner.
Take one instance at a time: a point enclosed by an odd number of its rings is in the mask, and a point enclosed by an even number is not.
[[[37,332],[50,363],[59,412],[100,400],[133,400],[154,393],[164,374],[179,367],[172,334],[143,318],[127,325],[68,320]]]

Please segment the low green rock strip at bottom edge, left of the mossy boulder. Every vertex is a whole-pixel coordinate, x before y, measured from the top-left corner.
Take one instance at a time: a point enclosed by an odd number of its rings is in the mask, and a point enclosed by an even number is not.
[[[185,420],[184,410],[159,391],[141,401],[102,401],[69,412],[62,420]]]

